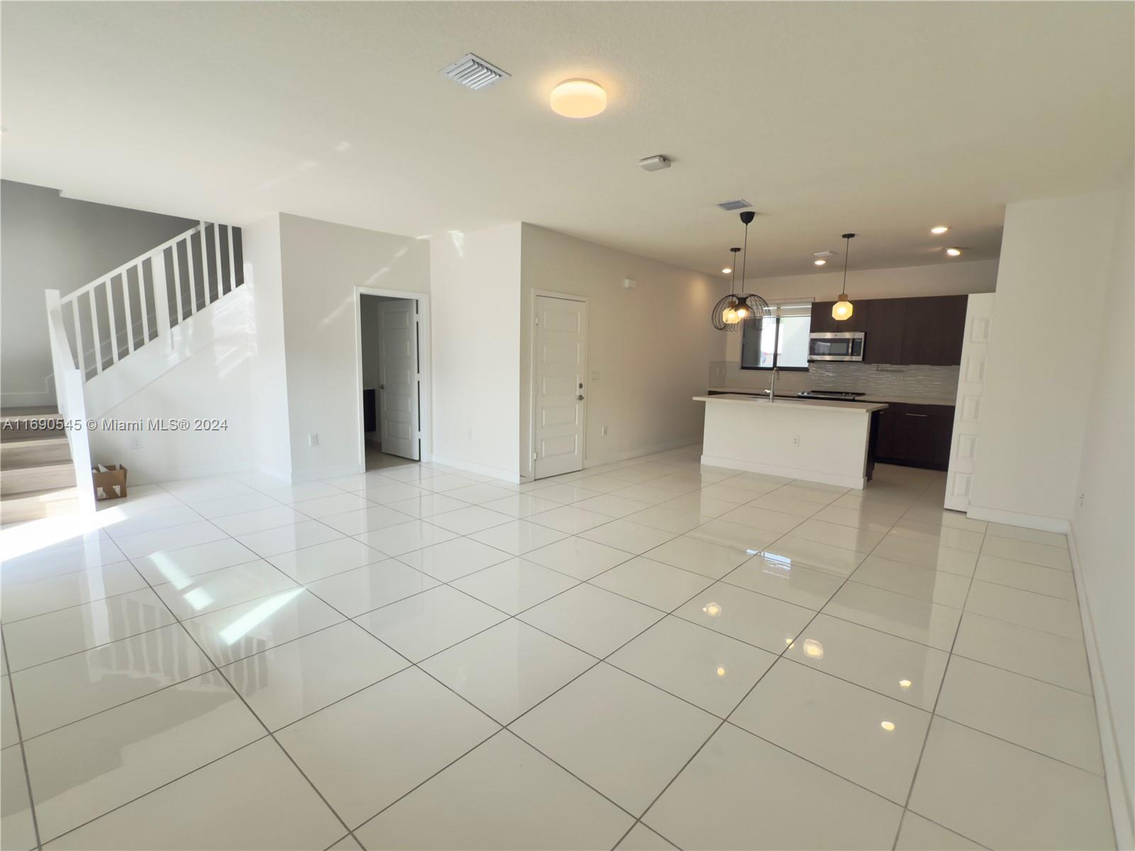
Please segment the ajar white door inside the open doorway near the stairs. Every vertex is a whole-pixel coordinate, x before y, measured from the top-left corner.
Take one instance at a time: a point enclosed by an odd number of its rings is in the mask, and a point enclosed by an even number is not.
[[[378,429],[382,452],[419,460],[418,302],[378,304]]]

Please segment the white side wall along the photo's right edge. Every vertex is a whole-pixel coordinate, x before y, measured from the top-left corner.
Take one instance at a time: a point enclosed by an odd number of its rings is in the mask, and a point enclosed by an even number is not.
[[[1100,353],[1091,368],[1087,426],[1071,516],[1081,592],[1099,676],[1095,699],[1103,703],[1105,753],[1117,755],[1111,808],[1119,848],[1135,844],[1135,216],[1130,187],[1135,167],[1119,184],[1115,243],[1110,255]],[[1112,768],[1111,765],[1109,767]],[[1116,783],[1119,780],[1119,783]],[[1116,789],[1118,786],[1118,790]]]

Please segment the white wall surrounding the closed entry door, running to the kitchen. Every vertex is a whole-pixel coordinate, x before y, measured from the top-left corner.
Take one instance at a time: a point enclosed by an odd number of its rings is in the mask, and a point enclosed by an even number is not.
[[[709,361],[725,335],[709,314],[725,290],[700,272],[564,234],[522,227],[521,472],[530,475],[533,290],[588,296],[585,464],[701,439]],[[623,288],[623,279],[638,281]],[[607,435],[603,435],[603,427]]]

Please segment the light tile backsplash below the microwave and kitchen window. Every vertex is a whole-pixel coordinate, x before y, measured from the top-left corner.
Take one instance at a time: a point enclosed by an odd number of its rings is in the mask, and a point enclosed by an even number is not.
[[[800,390],[861,390],[881,398],[949,399],[952,404],[960,369],[838,361],[810,363],[807,372],[781,372],[776,378],[776,395]],[[771,374],[764,370],[742,370],[729,361],[709,363],[708,386],[714,389],[767,390],[771,380]]]

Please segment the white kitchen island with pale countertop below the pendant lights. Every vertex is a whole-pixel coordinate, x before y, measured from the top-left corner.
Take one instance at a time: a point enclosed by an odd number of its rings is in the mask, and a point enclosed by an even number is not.
[[[857,489],[869,475],[872,414],[886,407],[740,394],[693,401],[706,405],[703,464]]]

